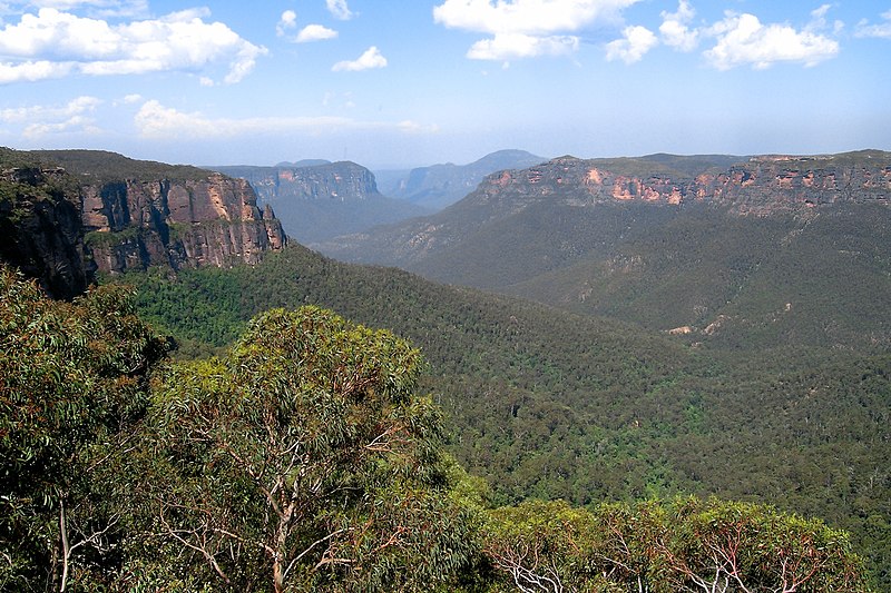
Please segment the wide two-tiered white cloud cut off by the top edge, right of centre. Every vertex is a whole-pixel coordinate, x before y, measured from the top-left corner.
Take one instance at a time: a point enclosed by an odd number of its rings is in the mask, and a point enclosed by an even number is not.
[[[450,29],[492,36],[473,43],[468,58],[505,60],[576,51],[569,33],[616,19],[639,0],[446,0],[433,20]]]

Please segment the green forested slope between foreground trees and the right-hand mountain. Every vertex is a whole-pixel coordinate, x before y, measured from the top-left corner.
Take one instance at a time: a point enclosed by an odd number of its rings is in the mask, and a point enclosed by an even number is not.
[[[691,346],[683,337],[351,266],[301,247],[254,267],[133,276],[194,356],[270,307],[317,304],[418,345],[449,451],[499,504],[679,493],[775,504],[851,530],[891,564],[887,353]]]

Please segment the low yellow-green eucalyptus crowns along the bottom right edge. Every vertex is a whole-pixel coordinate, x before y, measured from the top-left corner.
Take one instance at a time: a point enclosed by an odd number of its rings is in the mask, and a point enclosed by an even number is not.
[[[490,513],[486,555],[523,592],[864,593],[846,534],[748,503],[527,501]]]

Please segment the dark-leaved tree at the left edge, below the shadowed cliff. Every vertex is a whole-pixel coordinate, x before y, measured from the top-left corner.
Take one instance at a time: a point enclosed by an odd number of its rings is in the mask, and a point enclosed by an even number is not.
[[[116,569],[120,515],[97,476],[131,439],[166,349],[131,296],[55,302],[0,269],[0,589],[65,591]]]

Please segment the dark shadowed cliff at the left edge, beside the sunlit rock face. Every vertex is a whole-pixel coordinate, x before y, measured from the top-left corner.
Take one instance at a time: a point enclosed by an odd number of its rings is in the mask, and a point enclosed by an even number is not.
[[[38,278],[58,298],[87,289],[94,264],[84,248],[77,184],[60,169],[0,169],[0,260]]]

